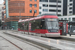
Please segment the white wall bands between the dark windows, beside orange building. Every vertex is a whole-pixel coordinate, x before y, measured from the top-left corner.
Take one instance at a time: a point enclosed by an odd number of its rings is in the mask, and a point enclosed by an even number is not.
[[[58,12],[58,14],[63,15],[63,0],[60,0],[61,3],[58,3],[58,5],[61,5],[61,7],[58,8],[58,10],[61,10],[61,12]],[[43,7],[43,4],[48,4],[48,7]],[[39,3],[39,7],[41,7],[41,9],[39,9],[39,12],[41,12],[41,14],[44,13],[50,13],[50,14],[56,14],[56,12],[49,12],[49,9],[52,10],[56,10],[56,7],[49,7],[49,5],[56,5],[56,2],[40,2]],[[48,9],[48,12],[43,12],[43,9]]]

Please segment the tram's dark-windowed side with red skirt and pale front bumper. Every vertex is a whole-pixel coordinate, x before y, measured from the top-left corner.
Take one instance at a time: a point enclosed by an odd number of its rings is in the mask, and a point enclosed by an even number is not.
[[[58,25],[57,22],[58,21],[56,21],[56,26]],[[55,24],[55,22],[52,22],[52,23]],[[48,24],[49,24],[49,22],[48,22]],[[52,29],[48,30],[46,28],[47,24],[45,23],[45,19],[32,20],[32,21],[29,22],[29,24],[28,24],[28,21],[26,21],[25,25],[24,25],[24,22],[20,22],[18,25],[19,25],[19,27],[18,27],[19,31],[24,31],[25,30],[26,32],[28,32],[28,28],[29,28],[29,32],[32,32],[32,33],[43,34],[45,36],[50,36],[50,37],[60,36],[59,29],[53,29],[52,28]],[[25,29],[24,29],[24,26],[25,26]]]

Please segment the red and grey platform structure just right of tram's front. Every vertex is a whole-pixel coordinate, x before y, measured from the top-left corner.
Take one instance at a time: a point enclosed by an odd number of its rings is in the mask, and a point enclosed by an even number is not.
[[[60,35],[67,35],[68,33],[68,22],[63,20],[59,21],[59,27],[60,27]]]

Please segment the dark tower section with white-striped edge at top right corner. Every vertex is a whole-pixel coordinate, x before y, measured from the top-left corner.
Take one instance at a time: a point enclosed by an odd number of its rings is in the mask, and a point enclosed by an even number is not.
[[[75,0],[63,0],[63,15],[75,14]]]

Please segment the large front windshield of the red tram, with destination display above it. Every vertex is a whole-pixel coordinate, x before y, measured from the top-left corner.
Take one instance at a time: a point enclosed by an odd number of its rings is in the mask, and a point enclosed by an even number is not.
[[[48,29],[59,29],[57,19],[47,19],[47,28]]]

